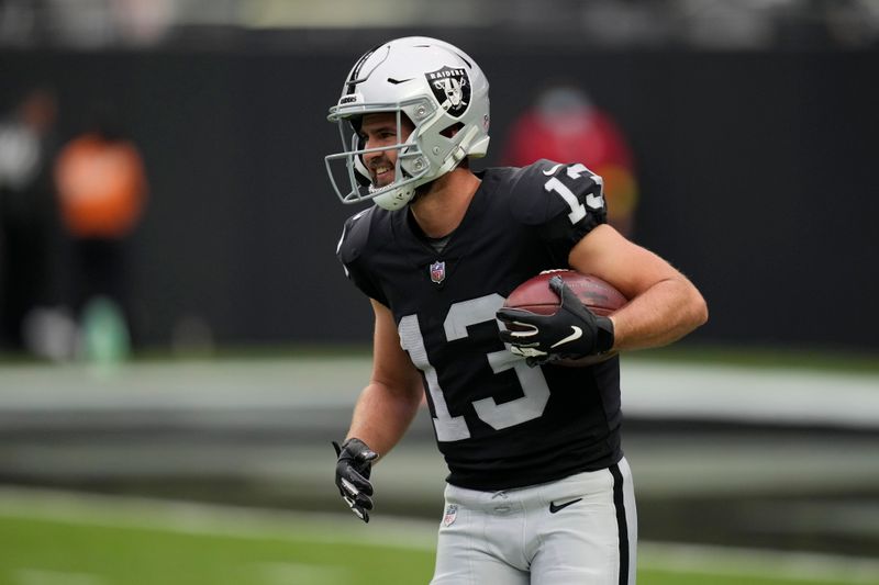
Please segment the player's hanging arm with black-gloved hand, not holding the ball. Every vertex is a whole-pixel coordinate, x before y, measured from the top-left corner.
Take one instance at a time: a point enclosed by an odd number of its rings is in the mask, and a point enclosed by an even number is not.
[[[421,375],[400,346],[391,312],[372,300],[376,315],[372,375],[354,407],[347,438],[336,448],[336,486],[352,511],[365,522],[372,509],[372,462],[393,448],[418,413]]]

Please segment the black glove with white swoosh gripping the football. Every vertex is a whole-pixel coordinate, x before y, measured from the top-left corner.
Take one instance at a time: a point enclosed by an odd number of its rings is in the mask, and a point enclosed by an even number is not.
[[[552,315],[538,315],[523,308],[501,308],[498,318],[508,329],[501,339],[510,351],[538,365],[560,359],[597,356],[613,347],[613,322],[589,311],[561,277],[549,279],[549,289],[561,300]]]

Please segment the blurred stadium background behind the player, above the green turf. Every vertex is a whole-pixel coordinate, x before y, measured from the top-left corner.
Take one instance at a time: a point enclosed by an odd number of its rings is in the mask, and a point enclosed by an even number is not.
[[[338,508],[325,115],[411,34],[488,75],[477,168],[585,162],[709,301],[623,362],[642,535],[879,556],[877,0],[0,0],[0,481]],[[439,514],[432,441],[389,514]]]

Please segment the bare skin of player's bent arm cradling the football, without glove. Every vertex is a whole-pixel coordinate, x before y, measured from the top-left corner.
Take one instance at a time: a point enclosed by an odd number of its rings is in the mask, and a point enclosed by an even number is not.
[[[631,300],[611,316],[615,350],[664,346],[708,320],[705,301],[687,277],[607,224],[587,234],[568,262]]]

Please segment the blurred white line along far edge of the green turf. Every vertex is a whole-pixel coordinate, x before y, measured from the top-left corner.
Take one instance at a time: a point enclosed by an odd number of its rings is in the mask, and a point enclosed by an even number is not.
[[[148,528],[191,535],[277,538],[292,542],[357,543],[431,551],[437,524],[375,517],[364,525],[347,514],[258,510],[149,498],[0,487],[0,516],[88,526]],[[303,533],[308,532],[308,533]],[[813,552],[641,542],[638,567],[682,573],[777,576],[803,583],[833,580],[879,583],[879,559]],[[332,567],[266,565],[271,577]]]

